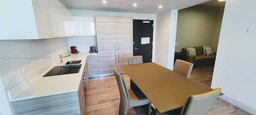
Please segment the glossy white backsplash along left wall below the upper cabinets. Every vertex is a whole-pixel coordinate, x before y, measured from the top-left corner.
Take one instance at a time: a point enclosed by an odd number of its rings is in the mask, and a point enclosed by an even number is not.
[[[0,75],[9,100],[33,95],[33,83],[42,69],[51,69],[60,63],[59,55],[67,54],[68,38],[42,40],[0,40],[1,56],[18,56],[19,59],[0,59]],[[51,59],[20,59],[23,56],[48,56]],[[44,66],[42,66],[44,65]],[[22,71],[26,72],[22,72]],[[37,75],[36,75],[37,74]]]

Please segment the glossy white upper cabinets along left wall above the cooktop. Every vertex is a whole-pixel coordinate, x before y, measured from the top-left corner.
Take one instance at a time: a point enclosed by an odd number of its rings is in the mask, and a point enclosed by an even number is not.
[[[59,0],[1,0],[0,40],[76,36],[74,16]]]

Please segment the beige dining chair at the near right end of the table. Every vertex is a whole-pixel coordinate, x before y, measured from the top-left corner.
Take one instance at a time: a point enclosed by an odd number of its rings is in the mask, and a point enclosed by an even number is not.
[[[212,91],[191,95],[188,97],[181,111],[174,109],[174,111],[167,111],[160,113],[157,111],[157,115],[207,115],[216,99],[220,96],[221,89],[216,88]]]

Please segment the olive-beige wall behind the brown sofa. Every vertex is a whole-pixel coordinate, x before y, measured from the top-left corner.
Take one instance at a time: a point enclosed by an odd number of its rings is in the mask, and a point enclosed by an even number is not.
[[[197,5],[179,10],[176,37],[178,46],[175,52],[181,52],[182,48],[196,46],[210,46],[216,52],[218,40],[214,40],[214,44],[212,42],[213,39],[219,38],[223,15],[223,10],[221,14],[219,9],[221,8]]]

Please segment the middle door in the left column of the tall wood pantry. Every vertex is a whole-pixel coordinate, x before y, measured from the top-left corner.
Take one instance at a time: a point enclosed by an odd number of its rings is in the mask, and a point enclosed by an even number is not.
[[[98,54],[116,52],[116,31],[97,33]]]

